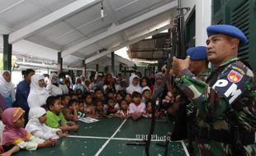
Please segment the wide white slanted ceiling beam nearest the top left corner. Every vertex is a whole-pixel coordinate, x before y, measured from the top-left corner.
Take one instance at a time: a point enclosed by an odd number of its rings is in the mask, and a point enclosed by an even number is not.
[[[72,15],[75,12],[81,11],[86,7],[91,7],[97,2],[100,2],[100,1],[99,0],[86,0],[86,1],[78,0],[78,1],[72,2],[69,5],[60,8],[59,10],[54,11],[49,15],[40,18],[37,21],[34,21],[30,25],[26,25],[20,30],[13,32],[9,36],[9,43],[14,44],[21,39],[25,39],[26,37],[35,33],[37,30],[40,30],[45,26],[50,25],[51,23],[54,23],[56,21],[60,21],[65,17]]]

